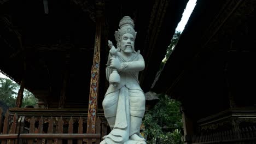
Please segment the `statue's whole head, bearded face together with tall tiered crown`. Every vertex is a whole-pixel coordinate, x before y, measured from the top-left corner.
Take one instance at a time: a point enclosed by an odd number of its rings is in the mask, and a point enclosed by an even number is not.
[[[119,22],[118,31],[115,31],[115,40],[117,40],[118,51],[136,52],[134,43],[137,32],[134,30],[134,23],[130,16],[124,16]]]

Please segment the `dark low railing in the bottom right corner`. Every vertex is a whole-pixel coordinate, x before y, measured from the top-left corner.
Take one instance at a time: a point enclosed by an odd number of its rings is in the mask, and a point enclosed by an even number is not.
[[[188,143],[256,143],[256,128],[246,127],[209,135],[187,136]]]

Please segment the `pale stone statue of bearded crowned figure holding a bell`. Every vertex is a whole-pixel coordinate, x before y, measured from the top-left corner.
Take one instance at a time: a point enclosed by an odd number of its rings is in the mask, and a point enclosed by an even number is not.
[[[133,20],[124,16],[115,32],[117,49],[111,41],[106,76],[109,87],[103,100],[104,115],[111,132],[101,144],[146,144],[139,134],[145,112],[145,96],[139,86],[138,73],[145,67],[144,59],[134,49],[136,32]]]

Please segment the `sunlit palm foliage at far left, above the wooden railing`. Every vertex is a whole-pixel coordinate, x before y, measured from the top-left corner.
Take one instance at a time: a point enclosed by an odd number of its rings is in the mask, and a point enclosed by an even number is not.
[[[15,107],[19,87],[20,86],[17,83],[0,77],[0,100],[3,101],[3,103],[5,103],[8,107]],[[35,98],[30,91],[24,89],[23,94],[24,98],[22,100],[22,107],[37,104],[37,98]]]

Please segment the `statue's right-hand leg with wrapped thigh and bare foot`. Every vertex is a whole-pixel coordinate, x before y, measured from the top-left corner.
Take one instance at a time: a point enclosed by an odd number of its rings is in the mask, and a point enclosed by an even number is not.
[[[130,139],[145,141],[139,134],[142,118],[145,112],[145,96],[142,91],[129,89],[130,100]]]

